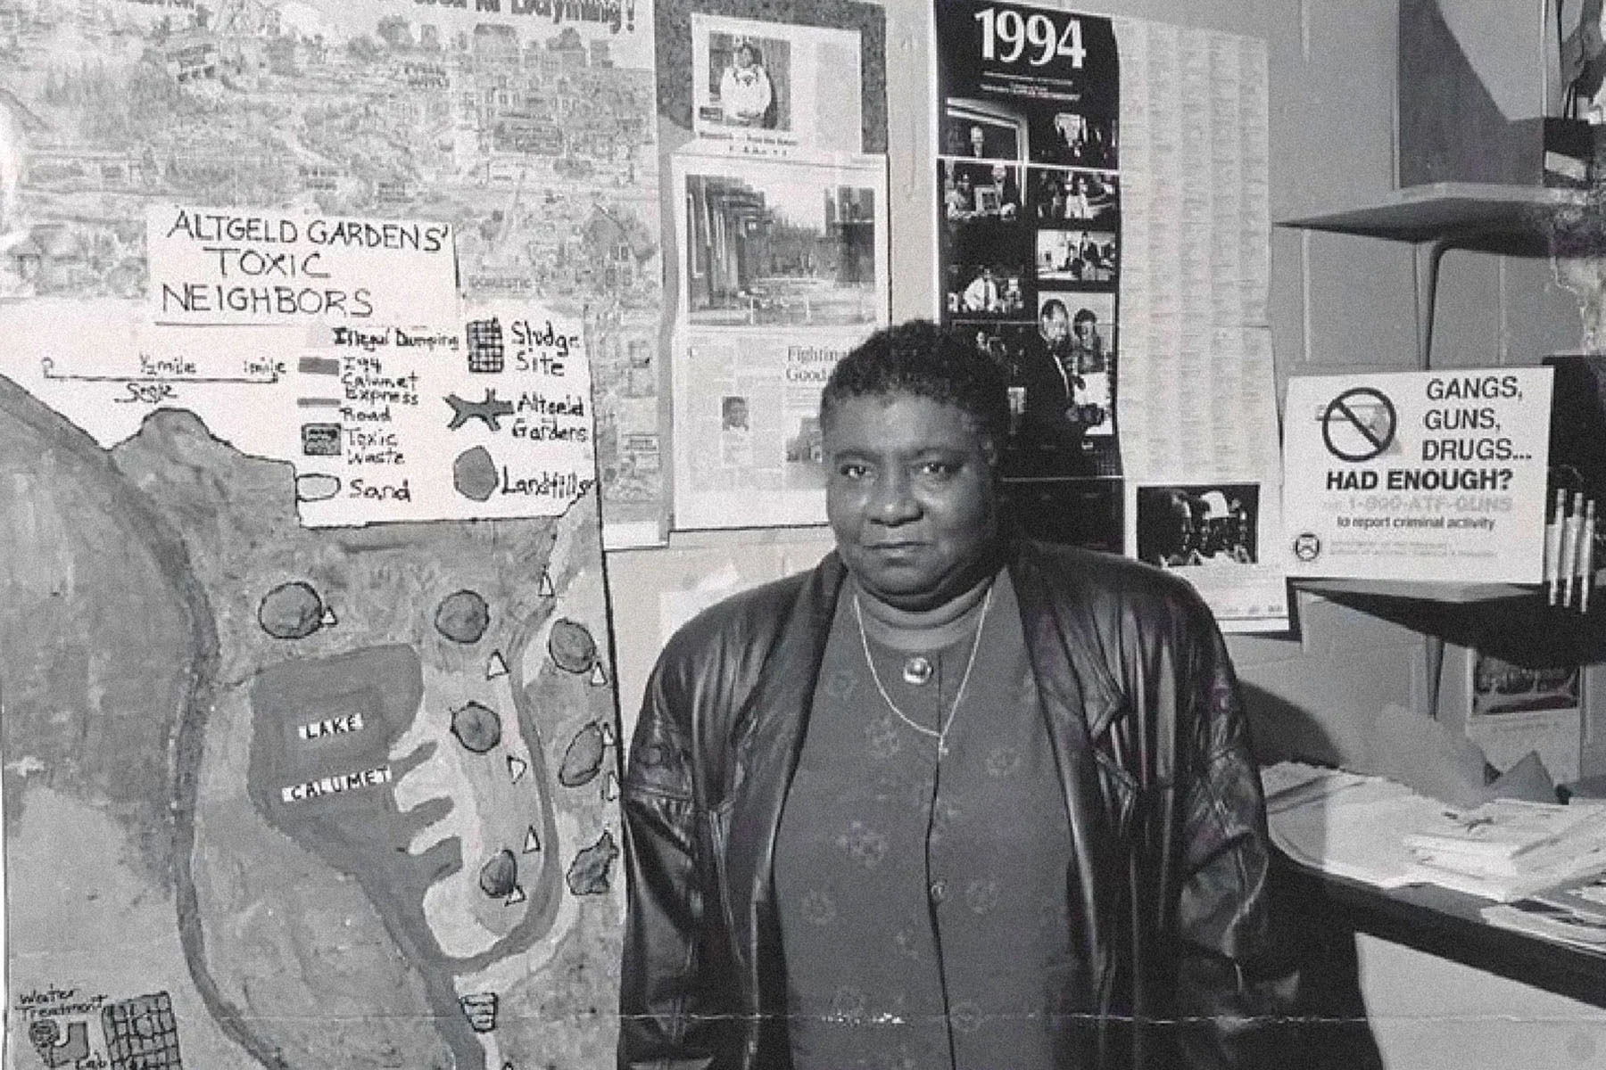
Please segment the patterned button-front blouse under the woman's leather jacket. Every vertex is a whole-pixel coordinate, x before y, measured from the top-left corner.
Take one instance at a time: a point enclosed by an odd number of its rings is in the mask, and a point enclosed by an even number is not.
[[[854,597],[776,844],[793,1067],[1070,1067],[1071,833],[1015,592],[925,630],[861,632]]]

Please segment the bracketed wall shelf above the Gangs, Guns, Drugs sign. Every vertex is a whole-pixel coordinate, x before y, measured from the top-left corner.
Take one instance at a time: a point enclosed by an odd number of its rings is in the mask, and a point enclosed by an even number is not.
[[[1584,204],[1571,189],[1543,186],[1503,186],[1495,183],[1433,183],[1396,189],[1375,204],[1323,212],[1278,226],[1338,234],[1365,234],[1405,242],[1426,242],[1463,236],[1457,247],[1490,247],[1543,241],[1547,221],[1561,209]],[[1500,252],[1503,249],[1497,249]],[[1543,250],[1539,250],[1543,252]]]

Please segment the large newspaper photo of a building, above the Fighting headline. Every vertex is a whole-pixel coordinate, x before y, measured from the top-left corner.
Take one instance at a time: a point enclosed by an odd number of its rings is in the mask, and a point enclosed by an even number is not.
[[[811,178],[813,176],[813,178]],[[684,178],[686,310],[692,324],[875,322],[877,204],[829,167],[732,162]]]

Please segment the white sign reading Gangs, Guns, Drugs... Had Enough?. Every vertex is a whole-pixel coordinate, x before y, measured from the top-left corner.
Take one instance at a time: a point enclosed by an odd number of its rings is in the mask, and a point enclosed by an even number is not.
[[[1291,379],[1288,568],[1539,582],[1551,369]]]

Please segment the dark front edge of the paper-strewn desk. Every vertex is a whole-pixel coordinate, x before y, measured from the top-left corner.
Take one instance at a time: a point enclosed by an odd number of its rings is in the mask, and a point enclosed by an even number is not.
[[[1490,900],[1431,884],[1380,889],[1272,858],[1274,882],[1302,913],[1606,1007],[1606,954],[1486,924]]]

